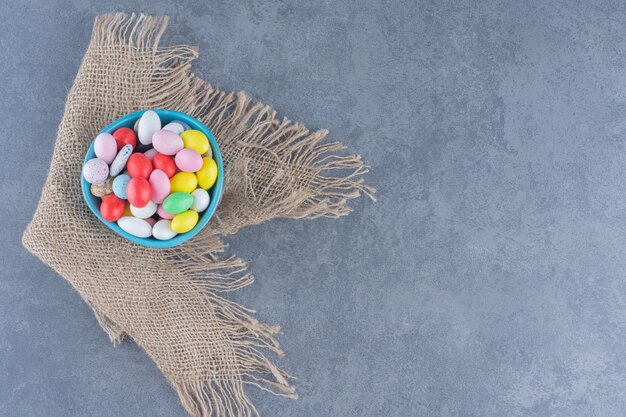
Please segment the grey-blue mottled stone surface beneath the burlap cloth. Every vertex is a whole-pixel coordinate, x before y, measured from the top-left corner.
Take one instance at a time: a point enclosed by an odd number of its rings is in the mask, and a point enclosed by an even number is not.
[[[585,4],[583,4],[585,3]],[[622,2],[3,1],[0,416],[185,416],[20,236],[96,14],[172,16],[195,71],[372,166],[380,201],[229,239],[300,399],[263,416],[623,416]]]

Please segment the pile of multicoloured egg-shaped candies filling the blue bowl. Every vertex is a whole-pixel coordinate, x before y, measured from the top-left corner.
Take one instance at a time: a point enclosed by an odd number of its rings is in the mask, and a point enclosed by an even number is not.
[[[217,164],[204,133],[182,121],[161,128],[148,110],[133,129],[100,133],[94,152],[83,177],[102,198],[102,217],[131,235],[169,240],[193,229],[209,206]]]

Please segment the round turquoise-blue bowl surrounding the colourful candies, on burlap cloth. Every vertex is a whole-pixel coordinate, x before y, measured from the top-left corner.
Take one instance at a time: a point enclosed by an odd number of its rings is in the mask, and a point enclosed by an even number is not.
[[[126,239],[135,242],[139,245],[148,246],[150,248],[171,248],[177,245],[180,245],[183,242],[188,241],[192,237],[198,234],[200,230],[209,222],[213,213],[215,213],[215,209],[217,209],[217,205],[222,198],[222,189],[224,187],[224,165],[222,163],[222,155],[220,154],[220,148],[217,145],[217,141],[213,136],[213,133],[199,120],[181,112],[177,112],[174,110],[154,110],[159,117],[161,118],[161,124],[165,126],[167,123],[180,120],[187,123],[192,129],[199,130],[204,133],[209,138],[209,144],[211,145],[211,150],[213,151],[213,159],[217,164],[217,181],[215,185],[209,189],[209,196],[211,197],[209,207],[202,213],[200,213],[200,218],[198,219],[198,224],[196,227],[188,231],[187,233],[181,233],[170,240],[157,240],[153,237],[148,238],[140,238],[137,236],[133,236],[130,233],[122,230],[116,222],[108,222],[102,218],[100,214],[100,198],[95,197],[91,194],[90,184],[85,180],[85,178],[81,178],[81,186],[83,189],[83,197],[87,202],[87,205],[93,212],[111,230],[114,230],[117,234],[124,236]],[[141,110],[135,113],[131,113],[118,119],[102,129],[102,132],[113,133],[120,127],[129,127],[133,128],[135,122],[141,115],[145,112],[145,110]],[[101,133],[102,133],[101,132]],[[96,155],[93,150],[93,141],[91,142],[91,146],[89,146],[89,150],[87,151],[87,155],[85,155],[85,162],[88,160],[95,158]]]

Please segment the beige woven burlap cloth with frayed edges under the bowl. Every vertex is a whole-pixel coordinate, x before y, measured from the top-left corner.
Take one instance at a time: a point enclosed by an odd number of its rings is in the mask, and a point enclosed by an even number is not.
[[[339,217],[346,202],[373,190],[360,157],[245,94],[227,94],[191,73],[196,48],[160,47],[167,17],[96,18],[67,98],[48,179],[24,233],[28,250],[81,294],[114,343],[128,335],[156,362],[194,416],[256,414],[244,384],[295,397],[289,375],[266,356],[282,355],[277,327],[224,298],[250,284],[219,235],[265,220]],[[225,192],[214,219],[173,249],[125,240],[89,211],[80,191],[91,140],[111,121],[144,108],[195,116],[215,134]]]

